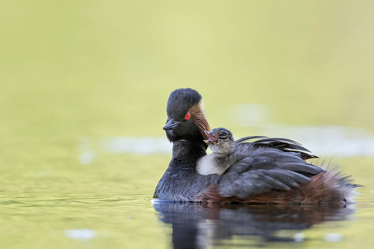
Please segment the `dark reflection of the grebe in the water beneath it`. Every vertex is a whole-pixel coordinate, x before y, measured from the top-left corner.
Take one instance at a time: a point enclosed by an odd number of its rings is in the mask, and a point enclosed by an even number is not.
[[[300,230],[325,221],[346,220],[347,215],[354,213],[354,204],[153,203],[153,207],[159,214],[160,221],[172,225],[174,249],[234,245],[237,243],[233,240],[234,236],[239,238],[241,246],[243,243],[261,246],[266,242],[300,242],[304,240]],[[284,230],[294,232],[282,233]]]

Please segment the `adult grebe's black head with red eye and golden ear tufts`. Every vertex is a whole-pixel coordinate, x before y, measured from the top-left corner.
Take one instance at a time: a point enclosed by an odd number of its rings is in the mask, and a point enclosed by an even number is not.
[[[163,129],[169,141],[203,141],[208,139],[205,130],[210,130],[203,113],[201,95],[191,88],[172,91],[166,107],[168,119]]]

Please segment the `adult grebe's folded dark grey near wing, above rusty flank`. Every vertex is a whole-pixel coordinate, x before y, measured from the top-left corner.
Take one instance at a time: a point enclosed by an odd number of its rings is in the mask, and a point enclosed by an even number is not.
[[[324,170],[296,155],[258,149],[230,166],[218,181],[217,190],[223,197],[244,199],[271,190],[290,190],[321,172]]]

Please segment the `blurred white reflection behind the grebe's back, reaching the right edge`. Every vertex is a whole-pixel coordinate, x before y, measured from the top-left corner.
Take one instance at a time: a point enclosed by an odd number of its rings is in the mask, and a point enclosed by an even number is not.
[[[267,117],[271,116],[269,108],[260,104],[237,105],[233,107],[232,113],[236,114],[232,117],[236,125],[255,128],[260,132],[245,136],[289,138],[303,144],[317,156],[374,156],[374,134],[362,128],[273,124],[267,121]],[[257,116],[256,122],[246,120],[252,116]]]

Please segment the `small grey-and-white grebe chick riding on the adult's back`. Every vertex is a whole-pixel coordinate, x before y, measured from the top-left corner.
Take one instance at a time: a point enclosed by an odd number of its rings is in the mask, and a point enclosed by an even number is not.
[[[197,172],[202,175],[222,175],[226,169],[237,162],[237,157],[231,156],[235,150],[232,133],[225,128],[215,128],[205,131],[208,140],[204,140],[213,151],[197,162]]]

